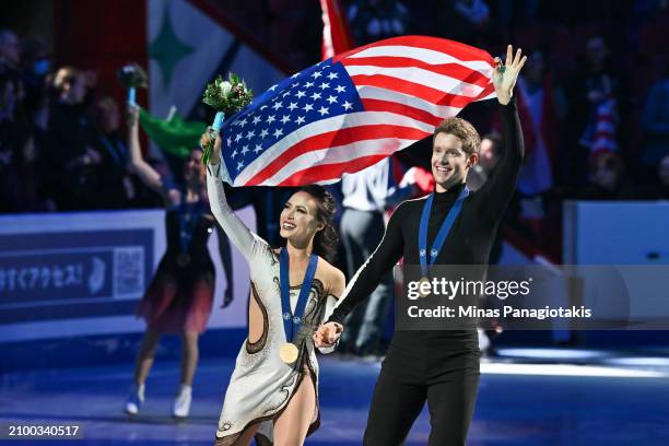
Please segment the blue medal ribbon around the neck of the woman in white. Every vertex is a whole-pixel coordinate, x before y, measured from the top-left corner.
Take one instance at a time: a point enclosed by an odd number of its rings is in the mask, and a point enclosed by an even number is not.
[[[287,248],[281,249],[279,254],[279,283],[281,286],[281,313],[283,316],[283,330],[285,332],[285,340],[292,342],[300,326],[302,325],[302,318],[304,317],[304,310],[306,309],[307,298],[309,296],[309,290],[312,289],[312,282],[316,274],[316,267],[318,266],[318,256],[312,254],[309,258],[309,265],[304,273],[304,281],[300,287],[300,295],[297,296],[297,305],[295,305],[295,313],[291,310],[291,294],[290,294],[290,258]]]

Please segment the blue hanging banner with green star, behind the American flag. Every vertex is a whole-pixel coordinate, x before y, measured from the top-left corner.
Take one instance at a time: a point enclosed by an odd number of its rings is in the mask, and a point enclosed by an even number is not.
[[[208,1],[146,0],[150,110],[167,116],[175,105],[191,116],[202,85],[218,73],[239,73],[258,94],[286,73],[227,28]],[[141,43],[139,43],[141,44]]]

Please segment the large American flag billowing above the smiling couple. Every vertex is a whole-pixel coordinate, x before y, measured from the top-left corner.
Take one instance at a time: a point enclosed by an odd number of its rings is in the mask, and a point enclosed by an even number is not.
[[[233,186],[329,184],[494,97],[493,58],[453,40],[402,36],[324,60],[272,86],[223,126]]]

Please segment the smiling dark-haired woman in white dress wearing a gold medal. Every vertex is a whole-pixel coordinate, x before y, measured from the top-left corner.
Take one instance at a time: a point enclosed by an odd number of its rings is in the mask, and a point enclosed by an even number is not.
[[[208,140],[204,134],[202,143]],[[324,259],[336,245],[334,201],[320,186],[293,193],[280,216],[286,246],[272,249],[227,204],[220,151],[216,137],[207,175],[211,210],[248,261],[253,298],[248,338],[225,392],[215,445],[248,445],[254,437],[262,445],[302,445],[320,422],[312,336],[345,287],[343,273]]]

